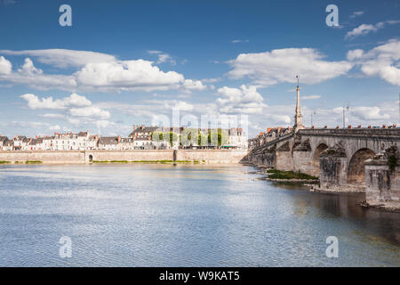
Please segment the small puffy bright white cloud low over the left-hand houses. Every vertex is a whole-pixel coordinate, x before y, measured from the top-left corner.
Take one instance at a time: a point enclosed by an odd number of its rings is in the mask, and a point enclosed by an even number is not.
[[[20,97],[28,102],[29,109],[54,109],[63,110],[68,107],[84,107],[91,106],[90,102],[86,97],[78,94],[71,94],[63,99],[53,100],[52,96],[48,98],[39,99],[36,94],[23,94]]]

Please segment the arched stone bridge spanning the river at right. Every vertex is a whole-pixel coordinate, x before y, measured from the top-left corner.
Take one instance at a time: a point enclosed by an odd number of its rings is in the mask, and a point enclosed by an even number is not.
[[[252,149],[247,160],[260,167],[319,176],[325,189],[363,191],[365,161],[389,148],[397,150],[398,161],[399,127],[300,129]],[[400,191],[399,167],[395,168],[391,188],[398,187]]]

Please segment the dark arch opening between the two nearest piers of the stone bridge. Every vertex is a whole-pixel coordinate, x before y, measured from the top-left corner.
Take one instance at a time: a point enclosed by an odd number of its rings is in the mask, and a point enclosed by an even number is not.
[[[364,161],[371,159],[375,152],[364,148],[356,151],[348,162],[348,184],[365,183]]]

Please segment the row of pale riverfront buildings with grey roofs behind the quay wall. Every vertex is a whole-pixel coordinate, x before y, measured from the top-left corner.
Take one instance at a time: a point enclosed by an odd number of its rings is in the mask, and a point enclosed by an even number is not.
[[[168,150],[180,149],[180,135],[185,127],[133,126],[132,133],[127,137],[99,136],[89,131],[70,133],[54,133],[53,135],[28,138],[17,135],[12,140],[0,135],[0,150],[2,151],[85,151],[85,150]],[[215,130],[198,130],[208,134]],[[247,149],[247,136],[241,128],[224,130],[228,134],[226,145],[221,148]],[[156,134],[158,135],[156,135]],[[155,135],[154,135],[155,134]],[[162,134],[162,135],[159,135]],[[172,137],[172,140],[171,140]],[[171,145],[172,141],[172,145]],[[198,148],[196,143],[193,148]],[[188,148],[188,147],[186,147]],[[207,146],[201,148],[207,149]]]

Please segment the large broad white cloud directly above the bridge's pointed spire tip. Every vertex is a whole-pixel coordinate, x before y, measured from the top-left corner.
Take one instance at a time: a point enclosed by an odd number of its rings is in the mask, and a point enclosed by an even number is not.
[[[324,61],[324,55],[312,48],[285,48],[265,53],[241,53],[229,63],[228,76],[250,77],[254,85],[301,82],[314,84],[339,77],[352,68],[348,61]]]

